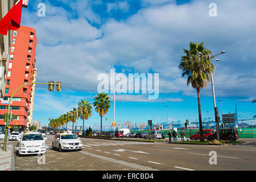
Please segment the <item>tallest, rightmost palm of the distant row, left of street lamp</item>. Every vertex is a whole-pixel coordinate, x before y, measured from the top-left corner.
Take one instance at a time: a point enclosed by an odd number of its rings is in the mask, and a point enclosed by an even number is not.
[[[109,96],[105,93],[98,93],[96,97],[94,97],[93,106],[95,107],[95,111],[99,113],[101,116],[101,134],[102,134],[102,117],[109,111],[110,108],[110,100]]]

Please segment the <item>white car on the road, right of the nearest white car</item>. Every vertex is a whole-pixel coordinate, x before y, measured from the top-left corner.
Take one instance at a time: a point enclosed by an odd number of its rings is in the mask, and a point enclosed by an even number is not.
[[[74,134],[56,134],[53,138],[52,148],[63,150],[82,150],[83,144]]]

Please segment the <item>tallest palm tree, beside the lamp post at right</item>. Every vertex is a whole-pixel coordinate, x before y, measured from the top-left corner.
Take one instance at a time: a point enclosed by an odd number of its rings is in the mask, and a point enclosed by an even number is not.
[[[202,127],[202,115],[201,115],[201,88],[206,88],[206,81],[210,81],[210,74],[214,72],[214,65],[211,64],[209,55],[211,51],[206,49],[203,45],[205,43],[197,44],[190,43],[190,50],[183,49],[185,56],[182,56],[179,69],[182,70],[182,77],[187,77],[187,86],[192,85],[197,89],[198,97],[198,115],[199,115],[199,131],[200,141],[203,142],[203,127]],[[201,56],[199,56],[201,52]]]

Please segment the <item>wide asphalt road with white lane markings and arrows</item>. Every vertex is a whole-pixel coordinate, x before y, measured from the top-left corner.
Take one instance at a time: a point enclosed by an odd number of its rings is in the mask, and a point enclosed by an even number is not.
[[[81,138],[82,151],[59,152],[51,148],[52,137],[53,135],[47,135],[45,164],[41,163],[42,156],[15,155],[16,170],[250,171],[256,169],[255,139],[247,139],[247,143],[237,146],[204,146]],[[14,146],[17,144],[17,142],[9,143]],[[210,161],[217,164],[209,163],[209,159],[215,157],[209,155],[211,151],[217,157]]]

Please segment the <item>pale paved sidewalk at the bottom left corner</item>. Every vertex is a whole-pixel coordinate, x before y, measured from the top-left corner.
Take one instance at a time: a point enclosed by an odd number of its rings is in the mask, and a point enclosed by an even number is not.
[[[12,171],[13,146],[8,146],[8,152],[3,151],[3,144],[0,144],[0,171]],[[14,159],[13,159],[14,160]],[[14,161],[13,161],[14,162]]]

